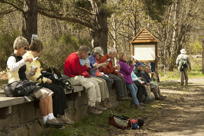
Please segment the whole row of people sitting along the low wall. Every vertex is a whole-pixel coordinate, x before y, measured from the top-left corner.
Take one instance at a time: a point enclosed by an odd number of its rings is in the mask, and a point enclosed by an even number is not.
[[[42,42],[34,37],[29,44],[24,37],[19,36],[14,41],[13,49],[7,61],[9,84],[24,80],[43,82],[41,88],[32,92],[32,96],[39,100],[43,123],[59,127],[71,124],[71,120],[64,118],[66,95],[63,87],[49,78],[39,80],[42,68],[38,58],[43,50]],[[116,58],[118,61],[115,64]],[[118,54],[114,48],[104,55],[101,47],[90,51],[87,46],[80,46],[77,52],[66,58],[64,75],[69,77],[72,85],[81,85],[86,89],[88,111],[93,114],[101,114],[111,108],[109,94],[112,88],[116,90],[119,101],[132,99],[135,108],[142,107],[147,101],[148,89],[153,92],[155,99],[165,98],[149,65],[136,62],[125,53]]]

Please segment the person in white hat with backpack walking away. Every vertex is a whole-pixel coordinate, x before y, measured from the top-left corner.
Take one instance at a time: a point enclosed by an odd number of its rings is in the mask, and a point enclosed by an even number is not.
[[[180,50],[181,54],[176,59],[176,65],[181,73],[181,85],[188,85],[188,73],[187,70],[191,70],[191,63],[185,49]]]

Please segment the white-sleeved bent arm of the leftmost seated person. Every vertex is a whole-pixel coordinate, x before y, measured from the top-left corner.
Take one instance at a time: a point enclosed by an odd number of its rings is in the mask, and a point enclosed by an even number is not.
[[[17,71],[24,65],[25,65],[24,59],[16,62],[16,58],[14,56],[8,58],[7,67],[10,71]]]

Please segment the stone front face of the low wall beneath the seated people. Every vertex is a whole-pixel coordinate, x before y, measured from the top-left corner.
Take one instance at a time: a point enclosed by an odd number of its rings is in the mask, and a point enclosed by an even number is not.
[[[110,91],[110,96],[113,106],[116,106],[115,90]],[[88,115],[87,104],[86,91],[69,94],[65,115],[74,121],[80,121]],[[0,114],[0,136],[39,136],[46,130],[42,125],[38,102],[36,101],[2,108]]]

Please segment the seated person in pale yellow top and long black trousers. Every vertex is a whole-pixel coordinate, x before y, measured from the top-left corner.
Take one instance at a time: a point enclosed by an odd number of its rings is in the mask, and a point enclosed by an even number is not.
[[[73,121],[68,117],[65,117],[65,109],[66,109],[66,95],[64,92],[64,88],[60,85],[53,83],[53,81],[49,78],[43,77],[38,80],[41,74],[41,63],[38,59],[43,50],[42,42],[36,37],[32,38],[31,44],[29,47],[29,51],[23,55],[23,58],[32,58],[33,61],[31,63],[26,63],[26,74],[28,75],[28,79],[36,82],[42,82],[42,86],[45,88],[49,88],[54,92],[53,94],[53,112],[54,115],[63,122],[64,124],[73,124]],[[32,75],[29,75],[32,73]]]

